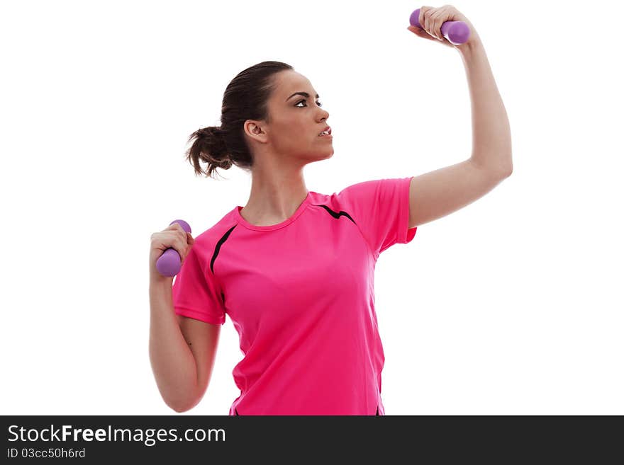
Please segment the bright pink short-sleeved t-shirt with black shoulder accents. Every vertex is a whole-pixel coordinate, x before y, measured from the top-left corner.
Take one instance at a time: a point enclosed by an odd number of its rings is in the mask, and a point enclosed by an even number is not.
[[[308,191],[296,212],[254,226],[237,206],[196,236],[174,279],[175,313],[225,314],[245,355],[230,415],[384,415],[377,328],[379,253],[408,243],[409,178]]]

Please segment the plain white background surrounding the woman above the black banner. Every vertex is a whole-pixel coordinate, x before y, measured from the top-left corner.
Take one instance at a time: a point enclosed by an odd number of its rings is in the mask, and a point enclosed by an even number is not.
[[[615,1],[453,4],[511,123],[513,175],[377,262],[386,415],[624,414],[624,105]],[[333,193],[470,156],[456,50],[410,1],[13,1],[0,6],[2,414],[227,415],[230,318],[204,399],[178,414],[148,355],[148,254],[245,205],[250,176],[194,176],[187,137],[264,60],[321,94]],[[431,6],[442,6],[433,4]]]

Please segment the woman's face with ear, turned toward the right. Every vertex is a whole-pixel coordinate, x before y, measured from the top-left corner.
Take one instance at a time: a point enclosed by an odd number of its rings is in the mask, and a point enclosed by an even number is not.
[[[245,132],[251,131],[253,139],[262,142],[262,148],[257,144],[255,148],[304,163],[330,158],[334,153],[332,137],[318,135],[329,126],[329,113],[321,108],[322,101],[310,81],[291,70],[280,71],[274,79],[277,87],[268,102],[271,122],[245,122]]]

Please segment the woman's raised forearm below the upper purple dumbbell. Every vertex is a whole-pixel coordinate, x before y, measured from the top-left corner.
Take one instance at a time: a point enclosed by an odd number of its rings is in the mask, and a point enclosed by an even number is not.
[[[511,173],[511,130],[485,48],[477,37],[458,47],[468,78],[472,108],[472,156],[480,166]]]

